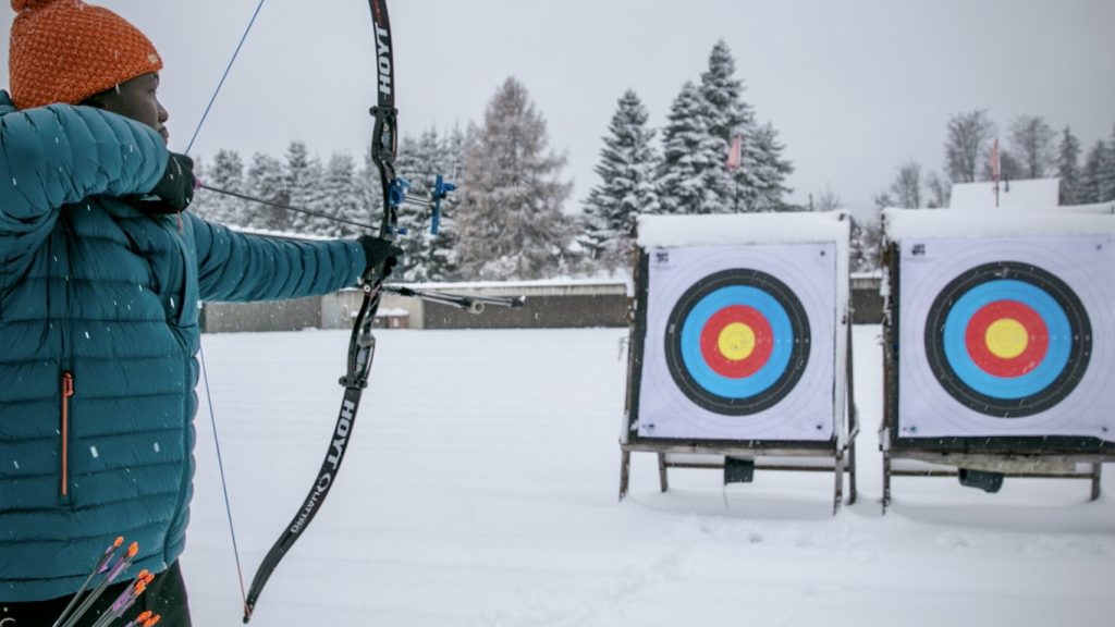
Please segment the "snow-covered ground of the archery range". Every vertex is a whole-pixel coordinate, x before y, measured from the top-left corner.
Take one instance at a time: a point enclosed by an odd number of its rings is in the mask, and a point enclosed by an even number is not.
[[[832,517],[831,474],[673,470],[659,493],[650,454],[619,503],[623,329],[379,331],[340,480],[252,624],[1115,624],[1115,498],[1087,482],[896,478],[880,514],[880,331],[854,334],[860,500]],[[246,580],[326,453],[347,344],[204,338]],[[197,431],[194,624],[240,625],[204,404]]]

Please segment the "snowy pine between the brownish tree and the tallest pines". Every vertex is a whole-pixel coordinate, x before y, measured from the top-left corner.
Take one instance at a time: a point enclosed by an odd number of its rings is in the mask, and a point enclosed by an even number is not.
[[[584,203],[581,245],[607,269],[623,264],[630,257],[639,213],[658,211],[653,182],[658,156],[651,145],[655,132],[647,128],[648,118],[639,96],[627,90],[600,151],[595,172],[601,184]]]

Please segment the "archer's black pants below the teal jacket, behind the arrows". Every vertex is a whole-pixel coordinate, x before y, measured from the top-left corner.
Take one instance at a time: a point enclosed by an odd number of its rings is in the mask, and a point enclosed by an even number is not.
[[[132,580],[114,583],[105,588],[104,594],[97,598],[97,602],[77,623],[77,627],[88,627],[93,625],[100,615],[113,605],[116,597],[125,588],[132,585]],[[83,598],[87,597],[83,595]],[[49,599],[46,601],[8,602],[0,601],[0,625],[3,627],[50,627],[66,609],[70,601],[70,596]],[[80,605],[80,604],[78,604]],[[190,604],[186,599],[186,585],[182,580],[182,569],[175,561],[165,571],[155,576],[143,595],[136,599],[132,609],[124,612],[123,618],[110,623],[112,627],[123,627],[129,620],[144,610],[152,610],[162,618],[158,627],[190,627]],[[12,621],[14,620],[14,621]]]

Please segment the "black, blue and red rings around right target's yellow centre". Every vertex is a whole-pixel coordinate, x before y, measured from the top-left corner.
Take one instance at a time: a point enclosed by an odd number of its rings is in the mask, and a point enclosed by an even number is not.
[[[1038,345],[1036,353],[1018,356],[1028,360],[1021,368],[1006,365],[1022,348],[992,355],[980,345],[982,336],[970,334],[997,316],[1019,332],[1025,327],[1022,347]],[[1028,263],[1001,261],[967,270],[941,290],[924,341],[929,367],[950,396],[988,416],[1019,418],[1054,407],[1080,383],[1092,356],[1092,322],[1063,280]]]

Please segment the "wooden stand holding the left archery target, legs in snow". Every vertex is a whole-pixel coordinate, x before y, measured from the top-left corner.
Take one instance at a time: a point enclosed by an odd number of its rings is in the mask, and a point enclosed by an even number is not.
[[[859,416],[852,394],[852,326],[847,314],[846,376],[844,395],[849,435],[843,441],[834,434],[827,441],[770,440],[681,440],[643,437],[637,426],[637,405],[647,338],[649,296],[649,255],[640,250],[634,272],[636,297],[632,302],[632,328],[628,354],[628,389],[624,405],[624,427],[620,437],[620,486],[622,501],[630,486],[631,453],[653,453],[658,457],[659,490],[669,490],[670,469],[705,469],[724,472],[725,484],[749,483],[755,471],[831,472],[833,473],[833,514],[845,503],[844,474],[849,475],[847,504],[856,500],[855,436]],[[717,457],[720,457],[717,460]]]

